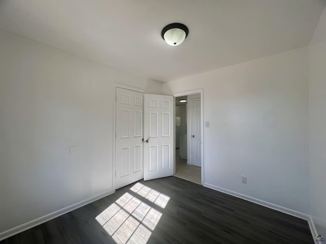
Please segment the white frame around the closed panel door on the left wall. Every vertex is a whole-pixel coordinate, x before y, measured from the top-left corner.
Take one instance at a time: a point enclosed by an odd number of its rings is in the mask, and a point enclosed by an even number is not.
[[[116,90],[117,88],[123,88],[127,90],[133,90],[134,92],[139,92],[139,93],[147,93],[146,90],[130,87],[130,86],[125,86],[125,85],[120,85],[120,84],[114,84],[114,89],[113,89],[113,151],[112,151],[112,162],[113,162],[113,171],[112,171],[112,186],[114,191],[116,191],[116,101],[117,101],[117,94]]]

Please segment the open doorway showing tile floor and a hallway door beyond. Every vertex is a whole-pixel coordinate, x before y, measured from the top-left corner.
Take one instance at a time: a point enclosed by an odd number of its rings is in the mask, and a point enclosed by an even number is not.
[[[175,96],[175,174],[202,184],[201,93]]]

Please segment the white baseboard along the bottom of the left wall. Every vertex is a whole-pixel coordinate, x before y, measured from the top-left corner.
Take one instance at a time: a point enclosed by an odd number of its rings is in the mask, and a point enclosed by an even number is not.
[[[4,239],[7,239],[8,237],[10,236],[13,236],[13,235],[16,235],[20,232],[23,232],[25,230],[28,230],[28,229],[31,229],[37,225],[40,225],[40,224],[43,224],[49,220],[52,220],[52,219],[55,219],[61,215],[64,215],[64,214],[67,214],[67,212],[70,212],[72,210],[75,210],[79,207],[82,207],[82,206],[85,206],[91,202],[94,202],[96,200],[99,200],[103,197],[106,197],[108,195],[111,195],[115,192],[115,190],[110,190],[110,191],[107,191],[107,192],[102,192],[100,194],[97,194],[95,195],[94,197],[90,197],[88,199],[85,199],[85,200],[82,200],[82,201],[79,201],[77,203],[74,203],[74,204],[71,204],[67,207],[64,207],[64,208],[61,208],[57,211],[54,211],[54,212],[51,212],[50,214],[47,214],[45,216],[42,216],[40,218],[37,218],[35,220],[32,220],[30,222],[27,222],[27,223],[24,223],[22,225],[19,225],[19,226],[16,226],[12,229],[9,229],[9,230],[6,230],[2,233],[0,233],[0,241],[1,240],[4,240]]]

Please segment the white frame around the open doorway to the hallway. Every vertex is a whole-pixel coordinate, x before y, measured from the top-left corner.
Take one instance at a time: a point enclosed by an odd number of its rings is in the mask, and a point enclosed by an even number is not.
[[[204,184],[204,166],[205,166],[205,163],[204,163],[204,89],[203,88],[199,88],[199,89],[194,89],[194,90],[186,90],[184,92],[180,92],[180,93],[175,93],[173,94],[173,97],[174,97],[174,108],[175,108],[175,98],[176,97],[182,97],[182,96],[188,96],[188,95],[193,95],[193,94],[200,94],[200,110],[201,110],[201,113],[200,113],[200,121],[201,121],[201,161],[202,161],[202,168],[201,168],[201,174],[202,174],[202,182],[201,182],[201,185]],[[174,118],[175,118],[175,109],[174,109]],[[175,126],[173,127],[173,133],[174,133],[174,144],[176,143],[176,138],[175,138]],[[187,131],[187,134],[189,132]],[[187,145],[189,146],[189,145]],[[174,146],[175,147],[175,146]],[[174,151],[175,151],[175,148],[174,148]],[[175,173],[175,168],[176,168],[176,154],[174,153],[174,173]]]

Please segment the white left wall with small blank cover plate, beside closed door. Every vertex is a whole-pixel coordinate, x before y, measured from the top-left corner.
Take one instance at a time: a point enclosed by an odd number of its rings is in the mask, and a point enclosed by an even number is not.
[[[0,43],[1,235],[112,191],[114,83],[161,84],[1,29]]]

